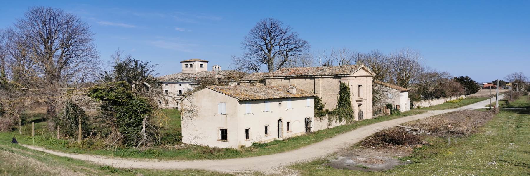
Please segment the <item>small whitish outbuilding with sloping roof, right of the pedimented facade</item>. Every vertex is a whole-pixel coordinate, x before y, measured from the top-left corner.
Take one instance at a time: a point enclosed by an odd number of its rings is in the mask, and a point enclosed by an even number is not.
[[[388,82],[374,80],[374,86],[381,86],[380,90],[386,97],[383,97],[383,104],[377,106],[384,106],[387,103],[399,108],[400,112],[410,110],[409,90],[407,88],[399,87]]]

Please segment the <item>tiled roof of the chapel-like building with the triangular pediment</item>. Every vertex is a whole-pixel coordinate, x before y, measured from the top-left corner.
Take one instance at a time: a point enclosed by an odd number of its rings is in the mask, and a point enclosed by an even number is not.
[[[331,75],[350,75],[363,65],[355,64],[348,66],[322,66],[322,67],[291,67],[281,68],[271,72],[270,77],[285,76],[331,76]]]

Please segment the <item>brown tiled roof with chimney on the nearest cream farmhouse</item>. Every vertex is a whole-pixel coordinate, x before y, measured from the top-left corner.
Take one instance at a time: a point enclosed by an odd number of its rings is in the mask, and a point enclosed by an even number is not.
[[[208,89],[234,97],[237,100],[259,100],[277,98],[297,98],[316,96],[311,92],[297,89],[296,94],[289,93],[288,87],[279,86],[208,86]]]

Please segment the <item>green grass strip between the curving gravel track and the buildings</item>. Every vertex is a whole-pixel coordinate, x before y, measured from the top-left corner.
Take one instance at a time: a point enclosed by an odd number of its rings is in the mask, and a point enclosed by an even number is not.
[[[461,107],[469,105],[475,102],[483,100],[481,98],[470,98],[462,100],[458,103],[444,103],[429,108],[422,109],[413,109],[407,112],[403,112],[400,115],[390,115],[390,116],[379,116],[373,119],[365,119],[364,121],[355,122],[352,124],[341,125],[329,129],[324,129],[318,132],[311,134],[291,137],[282,141],[276,140],[267,143],[266,145],[259,146],[250,146],[244,147],[241,150],[236,149],[218,149],[206,146],[196,146],[190,145],[181,149],[168,149],[163,147],[152,147],[147,150],[139,150],[135,148],[125,148],[117,149],[115,151],[111,150],[101,150],[101,149],[83,149],[80,146],[68,145],[66,140],[54,140],[50,139],[46,134],[37,135],[35,145],[44,146],[51,150],[70,152],[70,153],[80,153],[80,154],[95,154],[95,155],[104,155],[104,156],[117,156],[122,158],[148,158],[148,159],[163,159],[163,160],[197,160],[197,159],[227,159],[227,158],[242,158],[248,156],[258,156],[258,155],[268,155],[273,153],[280,153],[289,150],[299,149],[300,147],[313,144],[315,142],[320,142],[326,138],[333,137],[338,134],[342,134],[353,129],[359,128],[361,126],[374,124],[378,122],[388,121],[390,119],[421,114],[423,110],[434,110],[434,109],[446,109],[449,107]],[[166,128],[162,131],[165,134],[174,133],[173,137],[168,137],[167,141],[170,141],[176,137],[180,136],[180,115],[178,111],[173,109],[166,109],[165,113],[169,116],[170,122],[167,123]],[[172,114],[170,114],[172,113]],[[46,123],[46,122],[40,122]],[[43,128],[46,128],[46,125],[42,125]],[[30,126],[31,130],[31,126]],[[33,143],[32,138],[28,136],[28,133],[25,135],[19,135],[16,132],[12,133],[0,133],[0,140],[11,141],[11,137],[15,136],[19,139],[19,142],[22,144],[31,145]],[[31,134],[31,132],[29,133]],[[52,135],[51,135],[52,136]],[[167,136],[167,135],[166,135]]]

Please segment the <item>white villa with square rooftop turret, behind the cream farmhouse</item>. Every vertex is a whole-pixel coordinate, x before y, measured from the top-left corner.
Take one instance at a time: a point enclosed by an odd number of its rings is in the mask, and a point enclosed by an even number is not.
[[[164,99],[158,100],[158,106],[162,108],[179,108],[178,99],[182,98],[186,92],[197,88],[201,82],[211,81],[215,84],[236,85],[235,80],[248,75],[241,71],[221,70],[218,65],[208,71],[208,61],[202,59],[188,59],[180,63],[182,72],[157,78],[161,81],[162,89],[166,94]]]

